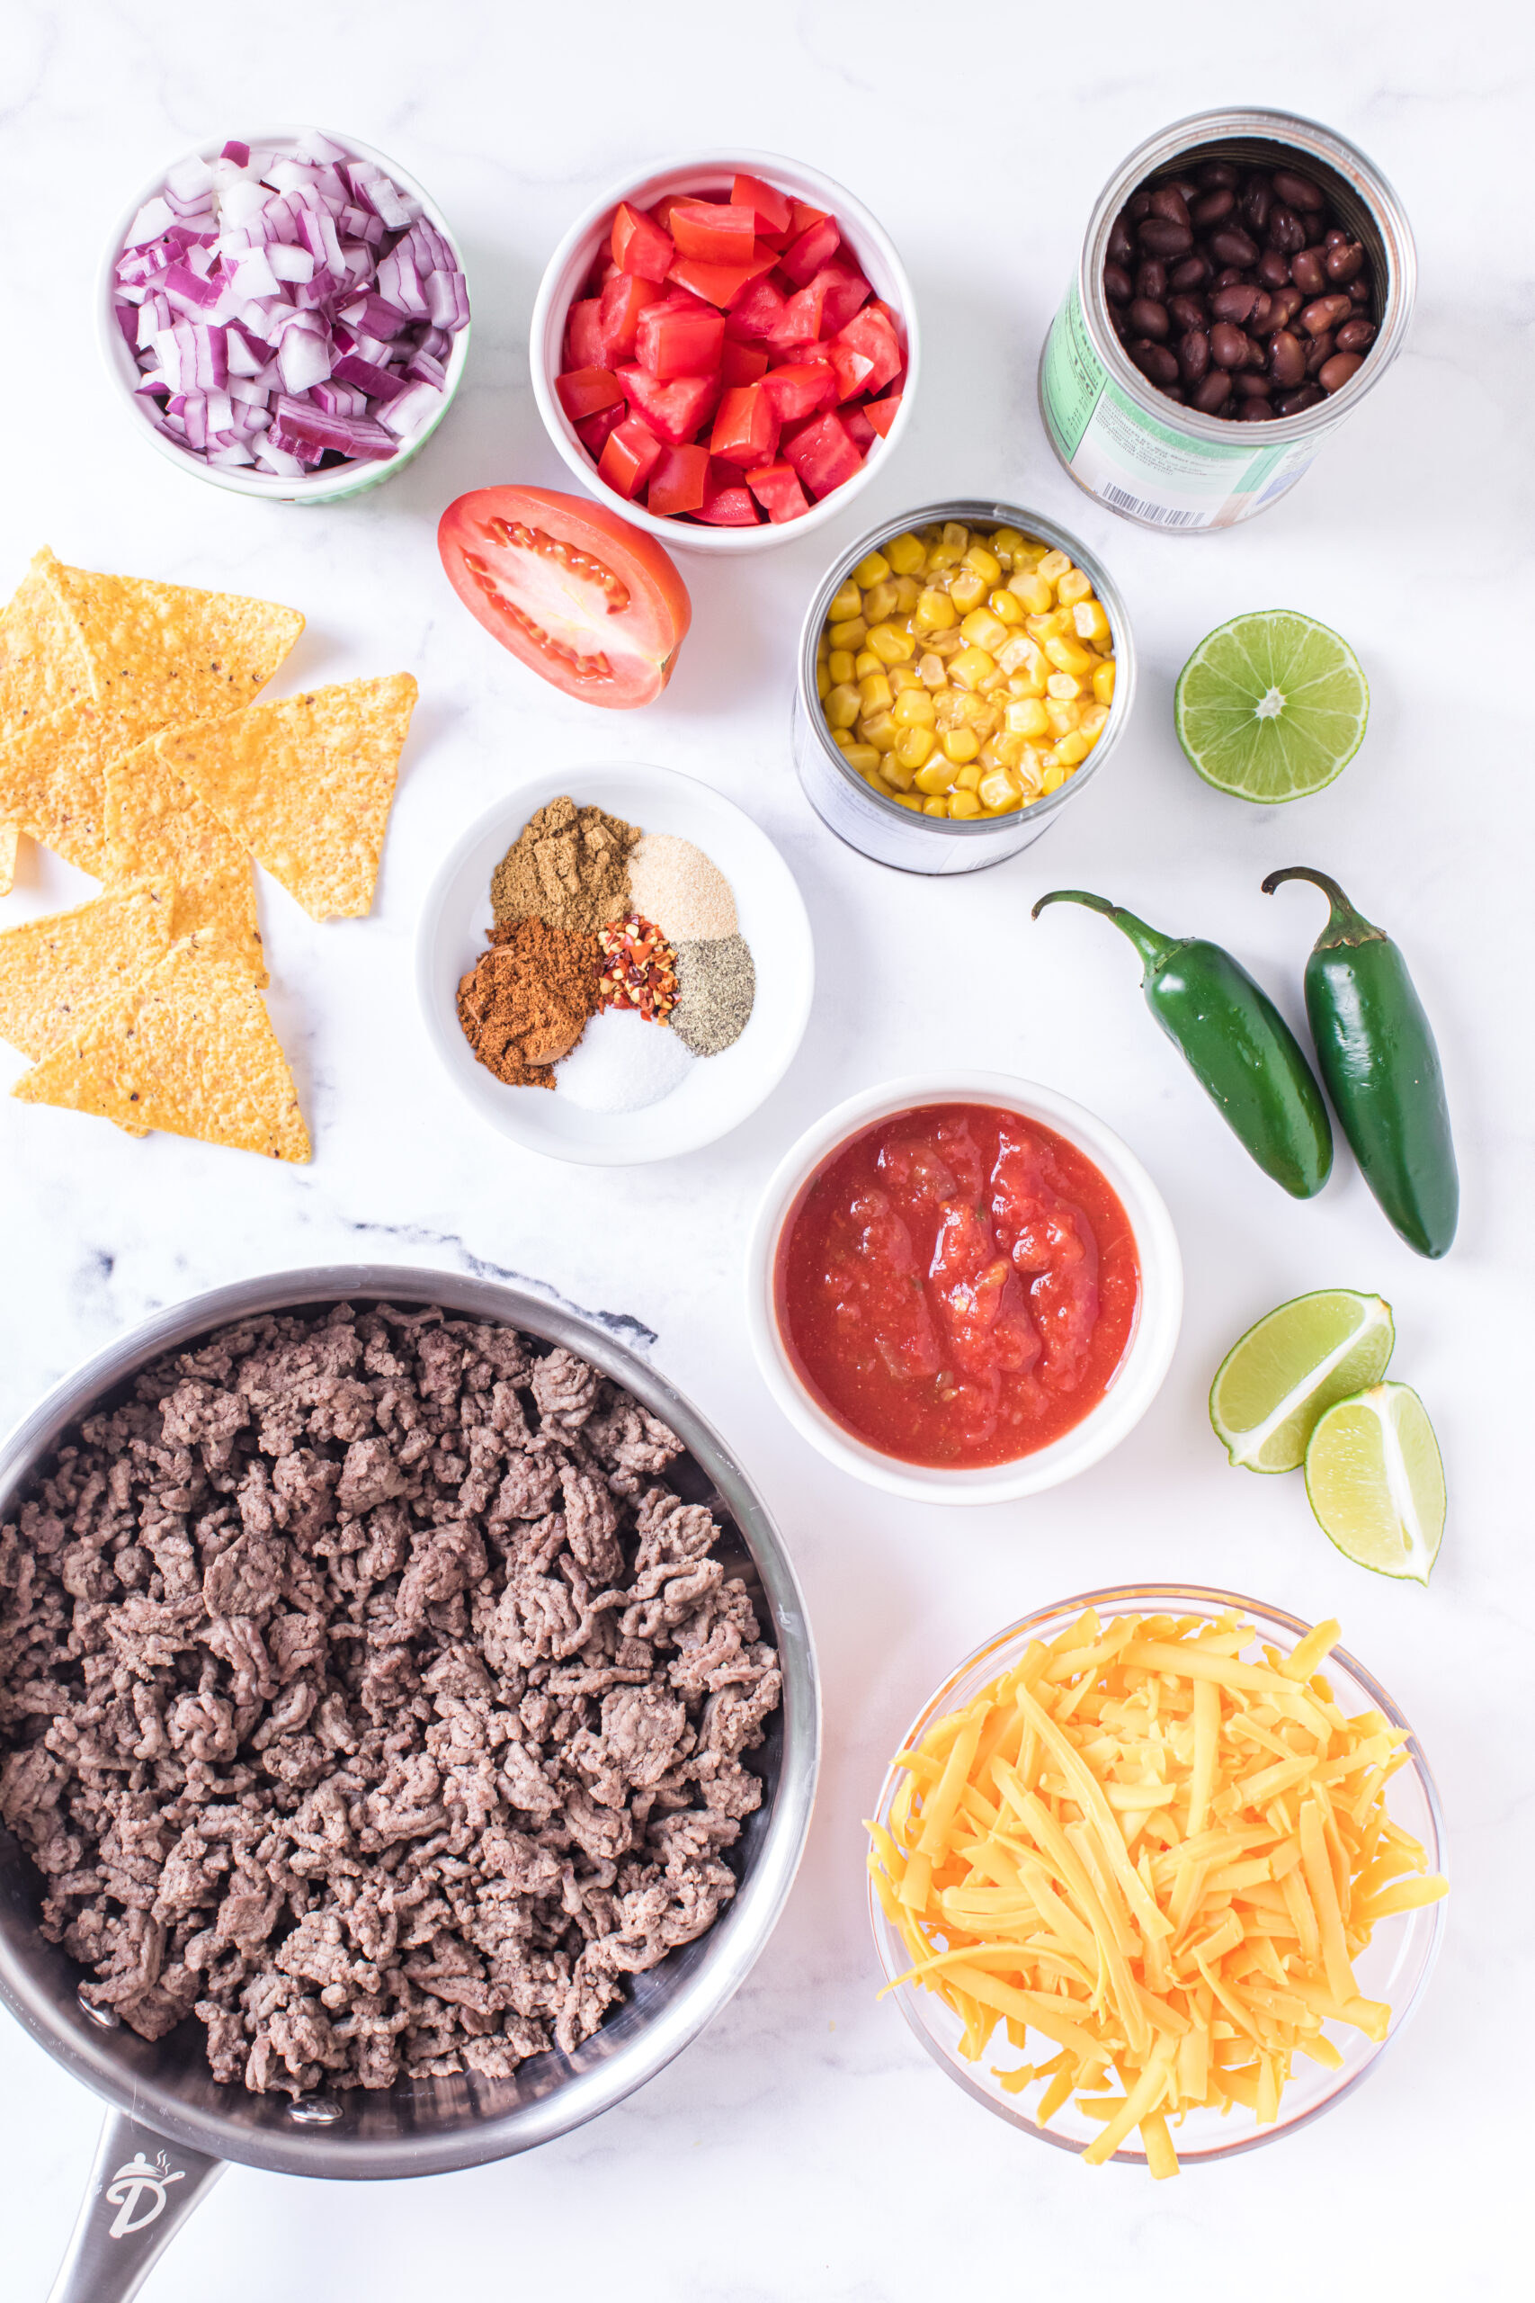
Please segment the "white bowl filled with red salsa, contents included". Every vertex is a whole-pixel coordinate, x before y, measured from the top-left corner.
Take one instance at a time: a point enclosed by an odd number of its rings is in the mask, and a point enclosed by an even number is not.
[[[1139,1423],[1183,1260],[1160,1191],[1070,1096],[992,1071],[838,1103],[773,1175],[748,1253],[769,1391],[891,1495],[1059,1488]]]

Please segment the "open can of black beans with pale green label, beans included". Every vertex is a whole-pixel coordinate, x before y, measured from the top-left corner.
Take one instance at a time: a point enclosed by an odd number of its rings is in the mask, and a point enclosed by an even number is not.
[[[1381,170],[1291,113],[1197,113],[1105,184],[1040,359],[1089,495],[1176,534],[1296,486],[1402,350],[1418,258]]]

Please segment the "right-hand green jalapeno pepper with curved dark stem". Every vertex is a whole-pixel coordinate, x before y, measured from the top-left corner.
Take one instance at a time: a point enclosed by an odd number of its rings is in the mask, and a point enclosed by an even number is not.
[[[1438,1048],[1406,960],[1326,871],[1270,871],[1263,894],[1284,880],[1309,880],[1332,907],[1305,963],[1305,1013],[1332,1110],[1408,1248],[1443,1255],[1461,1186]]]

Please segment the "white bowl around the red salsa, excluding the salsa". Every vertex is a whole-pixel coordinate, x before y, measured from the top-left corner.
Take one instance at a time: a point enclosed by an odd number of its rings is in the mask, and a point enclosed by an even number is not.
[[[990,1103],[1054,1128],[1086,1154],[1118,1193],[1135,1232],[1141,1267],[1141,1301],[1135,1329],[1109,1389],[1072,1430],[1015,1462],[953,1472],[902,1462],[856,1439],[805,1389],[782,1340],[776,1303],[778,1244],[801,1191],[815,1170],[863,1128],[925,1103]],[[1024,1495],[1059,1488],[1118,1446],[1141,1421],[1162,1389],[1183,1317],[1183,1257],[1162,1193],[1135,1152],[1102,1119],[1033,1080],[999,1071],[923,1071],[907,1080],[868,1087],[817,1119],[780,1161],[762,1195],[746,1251],[746,1324],[762,1377],[794,1428],[828,1462],[870,1488],[904,1495],[918,1504],[1010,1504]]]

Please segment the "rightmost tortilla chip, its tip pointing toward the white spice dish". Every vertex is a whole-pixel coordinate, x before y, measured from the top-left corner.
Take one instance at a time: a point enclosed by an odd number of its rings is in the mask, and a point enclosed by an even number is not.
[[[311,919],[361,919],[414,702],[410,672],[345,679],[168,728],[154,748]]]

